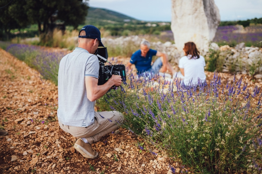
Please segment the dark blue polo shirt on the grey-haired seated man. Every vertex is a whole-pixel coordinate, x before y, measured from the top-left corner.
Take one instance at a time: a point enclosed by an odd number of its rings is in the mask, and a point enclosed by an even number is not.
[[[138,72],[142,73],[151,68],[152,57],[156,55],[156,50],[149,49],[146,57],[141,56],[141,50],[136,51],[130,59],[130,63],[135,64]]]

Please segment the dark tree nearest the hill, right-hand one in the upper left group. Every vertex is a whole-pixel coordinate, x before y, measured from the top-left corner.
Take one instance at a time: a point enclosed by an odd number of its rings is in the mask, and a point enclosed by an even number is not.
[[[84,22],[88,3],[83,0],[25,0],[25,11],[30,23],[37,23],[39,34],[54,28],[54,19],[74,28]],[[54,16],[56,16],[54,18]]]

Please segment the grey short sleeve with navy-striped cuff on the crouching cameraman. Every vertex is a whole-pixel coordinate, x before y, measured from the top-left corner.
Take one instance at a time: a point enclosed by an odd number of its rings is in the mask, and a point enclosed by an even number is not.
[[[90,56],[85,65],[85,76],[95,77],[98,79],[99,75],[99,61],[98,58],[94,56]]]

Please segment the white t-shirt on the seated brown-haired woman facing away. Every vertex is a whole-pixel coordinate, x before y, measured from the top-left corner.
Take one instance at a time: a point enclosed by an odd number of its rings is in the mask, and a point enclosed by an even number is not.
[[[198,59],[191,58],[191,56],[183,56],[179,59],[179,68],[184,68],[184,84],[189,85],[192,79],[192,84],[198,83],[198,77],[202,82],[206,79],[204,67],[206,66],[205,59],[203,56],[199,56]]]

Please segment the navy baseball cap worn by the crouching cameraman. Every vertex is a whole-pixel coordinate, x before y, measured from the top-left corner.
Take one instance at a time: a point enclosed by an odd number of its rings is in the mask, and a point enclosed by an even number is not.
[[[85,31],[85,36],[79,36],[80,32],[84,30]],[[80,30],[78,37],[79,38],[90,38],[90,39],[97,39],[99,40],[99,45],[105,47],[103,43],[101,42],[101,33],[98,28],[96,28],[93,25],[86,25]]]

